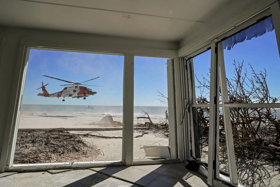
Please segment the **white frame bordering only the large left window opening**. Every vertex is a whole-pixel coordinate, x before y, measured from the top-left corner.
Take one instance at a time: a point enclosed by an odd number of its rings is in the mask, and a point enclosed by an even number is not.
[[[96,50],[81,50],[81,49],[69,49],[69,48],[61,48],[61,47],[53,47],[46,45],[45,47],[42,47],[40,45],[29,45],[29,43],[21,42],[20,46],[20,52],[19,52],[19,58],[22,54],[23,58],[20,61],[21,63],[21,72],[20,72],[20,88],[18,89],[17,94],[17,101],[16,101],[16,107],[15,107],[15,120],[13,122],[13,130],[12,130],[12,141],[9,146],[8,151],[8,164],[7,164],[7,170],[25,170],[25,169],[43,169],[43,168],[72,168],[72,167],[89,167],[89,166],[108,166],[108,165],[124,165],[124,156],[122,155],[122,160],[113,160],[113,161],[91,161],[91,162],[62,162],[62,163],[38,163],[38,164],[16,164],[13,166],[13,160],[14,160],[14,154],[15,154],[15,145],[16,145],[16,138],[17,138],[17,131],[18,131],[18,124],[19,124],[19,118],[20,118],[20,105],[22,102],[22,96],[24,92],[24,83],[27,73],[27,66],[28,66],[28,58],[30,49],[41,49],[41,50],[55,50],[55,51],[71,51],[71,52],[84,52],[84,53],[98,53],[98,54],[111,54],[111,55],[122,55],[127,56],[125,53],[113,53],[113,52],[101,52]],[[124,62],[125,66],[125,62]],[[124,67],[125,68],[125,67]],[[124,80],[123,80],[123,87],[124,87]],[[64,88],[65,89],[65,88]],[[123,106],[123,108],[125,108]],[[123,129],[125,128],[125,124],[123,124]],[[123,130],[124,134],[124,130]],[[124,136],[123,136],[124,137]],[[124,138],[123,138],[124,139]],[[123,141],[124,142],[124,141]],[[123,143],[122,143],[122,146]]]

